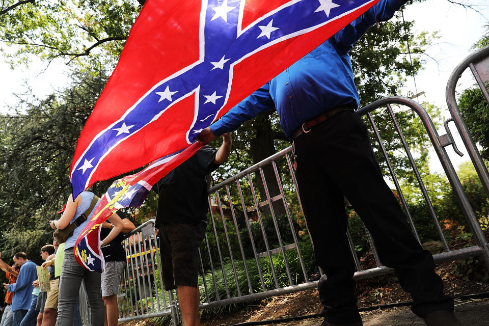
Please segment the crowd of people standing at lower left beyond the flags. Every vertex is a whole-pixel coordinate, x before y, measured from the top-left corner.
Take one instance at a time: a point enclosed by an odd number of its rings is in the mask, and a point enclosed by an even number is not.
[[[55,229],[64,229],[75,221],[77,227],[63,243],[55,238],[52,244],[41,248],[40,255],[44,262],[40,267],[47,269],[49,276],[47,291],[41,291],[37,265],[25,253],[16,253],[12,257],[12,265],[4,262],[0,253],[0,268],[9,280],[4,283],[7,293],[2,307],[1,326],[82,326],[78,295],[82,282],[90,303],[91,324],[117,325],[118,286],[126,262],[122,239],[135,226],[122,212],[111,216],[108,222],[101,225],[100,231],[105,259],[103,272],[91,272],[80,266],[74,258],[74,243],[90,220],[98,201],[88,191],[80,194],[75,201],[70,197],[58,212],[62,213],[61,218],[51,221],[50,225]],[[80,216],[83,221],[78,220]]]

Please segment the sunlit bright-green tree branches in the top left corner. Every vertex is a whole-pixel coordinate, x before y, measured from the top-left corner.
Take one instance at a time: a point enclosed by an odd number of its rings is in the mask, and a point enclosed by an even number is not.
[[[39,0],[16,7],[15,0],[3,3],[0,40],[16,48],[2,49],[11,65],[29,64],[35,55],[49,62],[63,58],[78,66],[111,69],[141,9],[131,0]]]

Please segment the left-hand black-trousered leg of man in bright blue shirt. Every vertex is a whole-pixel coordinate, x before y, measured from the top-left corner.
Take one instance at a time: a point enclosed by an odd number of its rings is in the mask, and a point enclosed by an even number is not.
[[[316,262],[324,271],[318,291],[324,320],[336,323],[361,321],[355,296],[355,264],[346,236],[343,195],[312,157],[321,148],[310,147],[304,135],[294,141],[296,178],[304,218],[314,245]]]

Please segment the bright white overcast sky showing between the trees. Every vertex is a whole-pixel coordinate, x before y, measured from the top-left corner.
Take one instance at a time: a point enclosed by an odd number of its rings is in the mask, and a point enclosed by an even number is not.
[[[471,53],[470,47],[484,33],[483,26],[488,23],[489,19],[489,4],[487,0],[471,0],[470,2],[477,4],[476,9],[479,12],[450,4],[447,0],[426,0],[405,9],[404,18],[415,20],[417,31],[439,31],[441,36],[436,44],[427,50],[428,55],[433,59],[426,58],[425,69],[415,77],[417,91],[425,92],[425,95],[419,98],[420,102],[427,101],[446,108],[445,88],[450,73],[460,61]],[[69,79],[66,72],[68,70],[69,67],[65,66],[62,60],[53,61],[47,68],[45,63],[34,60],[29,68],[20,67],[11,70],[2,58],[0,60],[0,76],[2,76],[0,78],[0,112],[5,112],[6,103],[16,103],[13,93],[21,92],[24,89],[25,80],[36,96],[43,97],[53,89],[67,85]],[[416,93],[412,77],[409,77],[401,95],[406,95],[408,91]],[[445,116],[447,116],[446,113]],[[448,152],[453,151],[448,150]],[[460,161],[456,158],[455,165]]]

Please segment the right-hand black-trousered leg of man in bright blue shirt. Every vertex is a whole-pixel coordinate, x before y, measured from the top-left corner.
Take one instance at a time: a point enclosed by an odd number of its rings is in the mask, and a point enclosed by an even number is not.
[[[324,172],[360,215],[382,263],[395,269],[400,285],[411,293],[413,312],[424,317],[436,310],[453,311],[453,301],[443,294],[443,281],[434,273],[431,254],[417,242],[383,179],[365,124],[354,113],[328,122],[313,142],[325,150],[314,158],[323,162]]]

